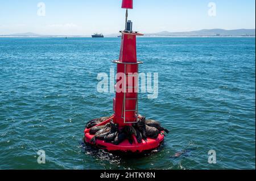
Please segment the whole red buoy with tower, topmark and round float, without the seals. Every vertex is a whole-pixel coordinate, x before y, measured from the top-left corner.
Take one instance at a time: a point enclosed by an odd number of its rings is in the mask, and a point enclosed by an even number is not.
[[[132,0],[123,0],[122,8],[132,9]],[[117,64],[117,83],[115,85],[115,98],[113,99],[113,116],[108,120],[96,125],[106,125],[113,120],[114,123],[119,125],[119,129],[126,126],[133,126],[142,117],[138,112],[138,73],[139,65],[143,64],[142,61],[137,60],[136,38],[141,36],[141,33],[132,31],[132,23],[127,21],[126,12],[126,30],[121,31],[122,42],[119,54],[119,59],[113,62]],[[119,76],[120,75],[120,76]],[[164,134],[160,132],[155,139],[147,138],[147,141],[142,140],[138,143],[137,138],[133,135],[133,144],[128,140],[121,142],[119,145],[114,145],[111,142],[104,140],[96,140],[92,143],[93,134],[90,134],[90,129],[84,131],[84,141],[88,144],[97,146],[100,149],[108,151],[132,151],[142,152],[158,148],[164,141]]]

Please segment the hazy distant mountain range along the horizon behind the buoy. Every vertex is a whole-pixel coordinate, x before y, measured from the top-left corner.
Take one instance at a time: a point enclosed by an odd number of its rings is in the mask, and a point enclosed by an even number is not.
[[[119,36],[120,33],[114,33],[106,36]],[[10,35],[0,36],[47,36],[39,35],[37,33],[15,33]],[[52,35],[60,36],[60,35]],[[238,29],[238,30],[224,30],[224,29],[210,29],[210,30],[199,30],[199,31],[188,31],[188,32],[158,32],[158,33],[145,33],[145,36],[255,36],[255,29]]]

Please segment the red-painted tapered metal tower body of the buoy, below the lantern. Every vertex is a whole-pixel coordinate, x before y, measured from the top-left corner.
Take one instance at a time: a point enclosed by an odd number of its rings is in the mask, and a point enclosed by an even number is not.
[[[136,50],[136,36],[137,33],[122,33],[122,43],[121,50],[119,54],[119,61],[122,63],[137,63],[137,50]],[[126,70],[125,70],[126,67]],[[130,122],[135,122],[137,119],[136,111],[126,112],[126,120],[123,119],[123,98],[125,96],[125,87],[136,87],[137,77],[128,77],[129,74],[138,73],[138,64],[117,64],[117,74],[125,75],[125,77],[117,77],[117,85],[115,85],[115,90],[122,90],[121,92],[115,93],[115,107],[114,115],[115,122],[119,124],[120,127],[124,127]],[[126,82],[126,84],[125,84]],[[137,98],[137,89],[136,88],[127,88],[126,89],[126,100],[125,109],[126,110],[136,110],[136,98]],[[132,100],[133,99],[133,100]]]

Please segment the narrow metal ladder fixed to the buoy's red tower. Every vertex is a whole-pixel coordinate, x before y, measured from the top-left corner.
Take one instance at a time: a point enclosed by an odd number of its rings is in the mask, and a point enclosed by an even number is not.
[[[124,64],[125,65],[125,87],[124,87],[124,92],[123,92],[123,107],[122,107],[122,118],[123,118],[123,121],[124,121],[124,123],[126,123],[126,124],[133,124],[133,123],[137,123],[138,122],[138,115],[139,115],[139,112],[138,112],[138,102],[139,102],[139,99],[138,99],[138,93],[139,93],[139,85],[138,85],[138,83],[139,83],[139,77],[138,77],[138,74],[137,75],[127,75],[126,74],[126,65],[127,64],[129,64],[129,63],[126,63],[126,64]],[[133,63],[131,63],[131,64],[133,64]],[[139,72],[139,65],[137,66],[137,73]],[[127,77],[137,77],[137,79],[136,79],[136,81],[137,81],[137,86],[131,86],[131,87],[129,87],[129,86],[127,86],[127,82],[126,82],[126,79],[127,79]],[[137,98],[126,98],[126,91],[127,91],[127,89],[133,89],[133,91],[135,90],[135,89],[137,89]],[[136,108],[135,108],[135,110],[126,110],[126,100],[136,100]],[[135,114],[136,114],[136,117],[134,117],[136,120],[135,121],[133,121],[133,122],[126,122],[126,112],[135,112]]]

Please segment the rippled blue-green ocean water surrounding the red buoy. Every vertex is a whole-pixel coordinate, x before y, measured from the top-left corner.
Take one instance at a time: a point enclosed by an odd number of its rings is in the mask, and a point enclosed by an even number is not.
[[[255,169],[254,37],[138,38],[140,71],[159,73],[158,98],[140,94],[139,112],[170,134],[143,157],[82,144],[86,121],[113,113],[97,74],[115,68],[120,43],[0,39],[0,169]]]

